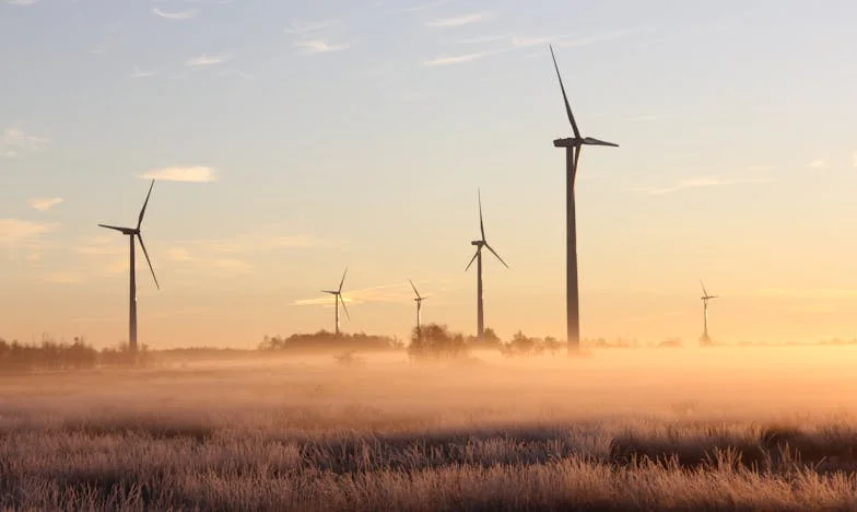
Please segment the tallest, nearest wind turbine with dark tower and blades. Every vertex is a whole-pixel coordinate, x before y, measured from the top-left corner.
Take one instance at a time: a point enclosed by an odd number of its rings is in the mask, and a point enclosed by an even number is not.
[[[580,136],[580,130],[577,129],[577,123],[574,120],[574,114],[572,114],[572,107],[568,104],[568,96],[565,94],[565,85],[563,85],[562,77],[560,75],[560,67],[556,65],[556,56],[553,54],[553,46],[551,46],[551,58],[553,59],[553,67],[556,70],[556,78],[560,79],[560,89],[562,90],[563,101],[565,102],[565,113],[568,115],[568,120],[571,121],[572,130],[574,131],[574,137],[572,138],[556,139],[553,141],[554,147],[565,148],[565,317],[568,353],[574,354],[580,350],[580,307],[577,290],[577,228],[574,209],[574,181],[577,176],[577,161],[580,159],[580,150],[584,146],[610,146],[619,148],[619,144]]]

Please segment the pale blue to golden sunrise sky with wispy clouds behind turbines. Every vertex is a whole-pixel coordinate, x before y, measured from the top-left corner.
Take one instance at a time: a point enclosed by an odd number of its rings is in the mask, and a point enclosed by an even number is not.
[[[2,0],[0,337],[255,347],[332,329],[562,338],[556,58],[586,148],[582,335],[857,335],[857,3]]]

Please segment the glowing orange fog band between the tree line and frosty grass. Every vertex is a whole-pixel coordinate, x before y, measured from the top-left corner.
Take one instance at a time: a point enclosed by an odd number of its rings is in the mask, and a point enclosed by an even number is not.
[[[306,415],[302,424],[310,430],[399,430],[615,416],[762,421],[857,409],[854,346],[604,349],[520,360],[484,351],[420,365],[403,352],[356,358],[260,356],[4,375],[0,421],[107,412],[218,421],[278,411]]]

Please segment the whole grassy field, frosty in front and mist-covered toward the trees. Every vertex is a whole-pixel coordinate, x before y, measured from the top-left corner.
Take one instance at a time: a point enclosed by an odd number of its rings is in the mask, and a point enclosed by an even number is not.
[[[857,347],[0,376],[0,508],[857,510]]]

